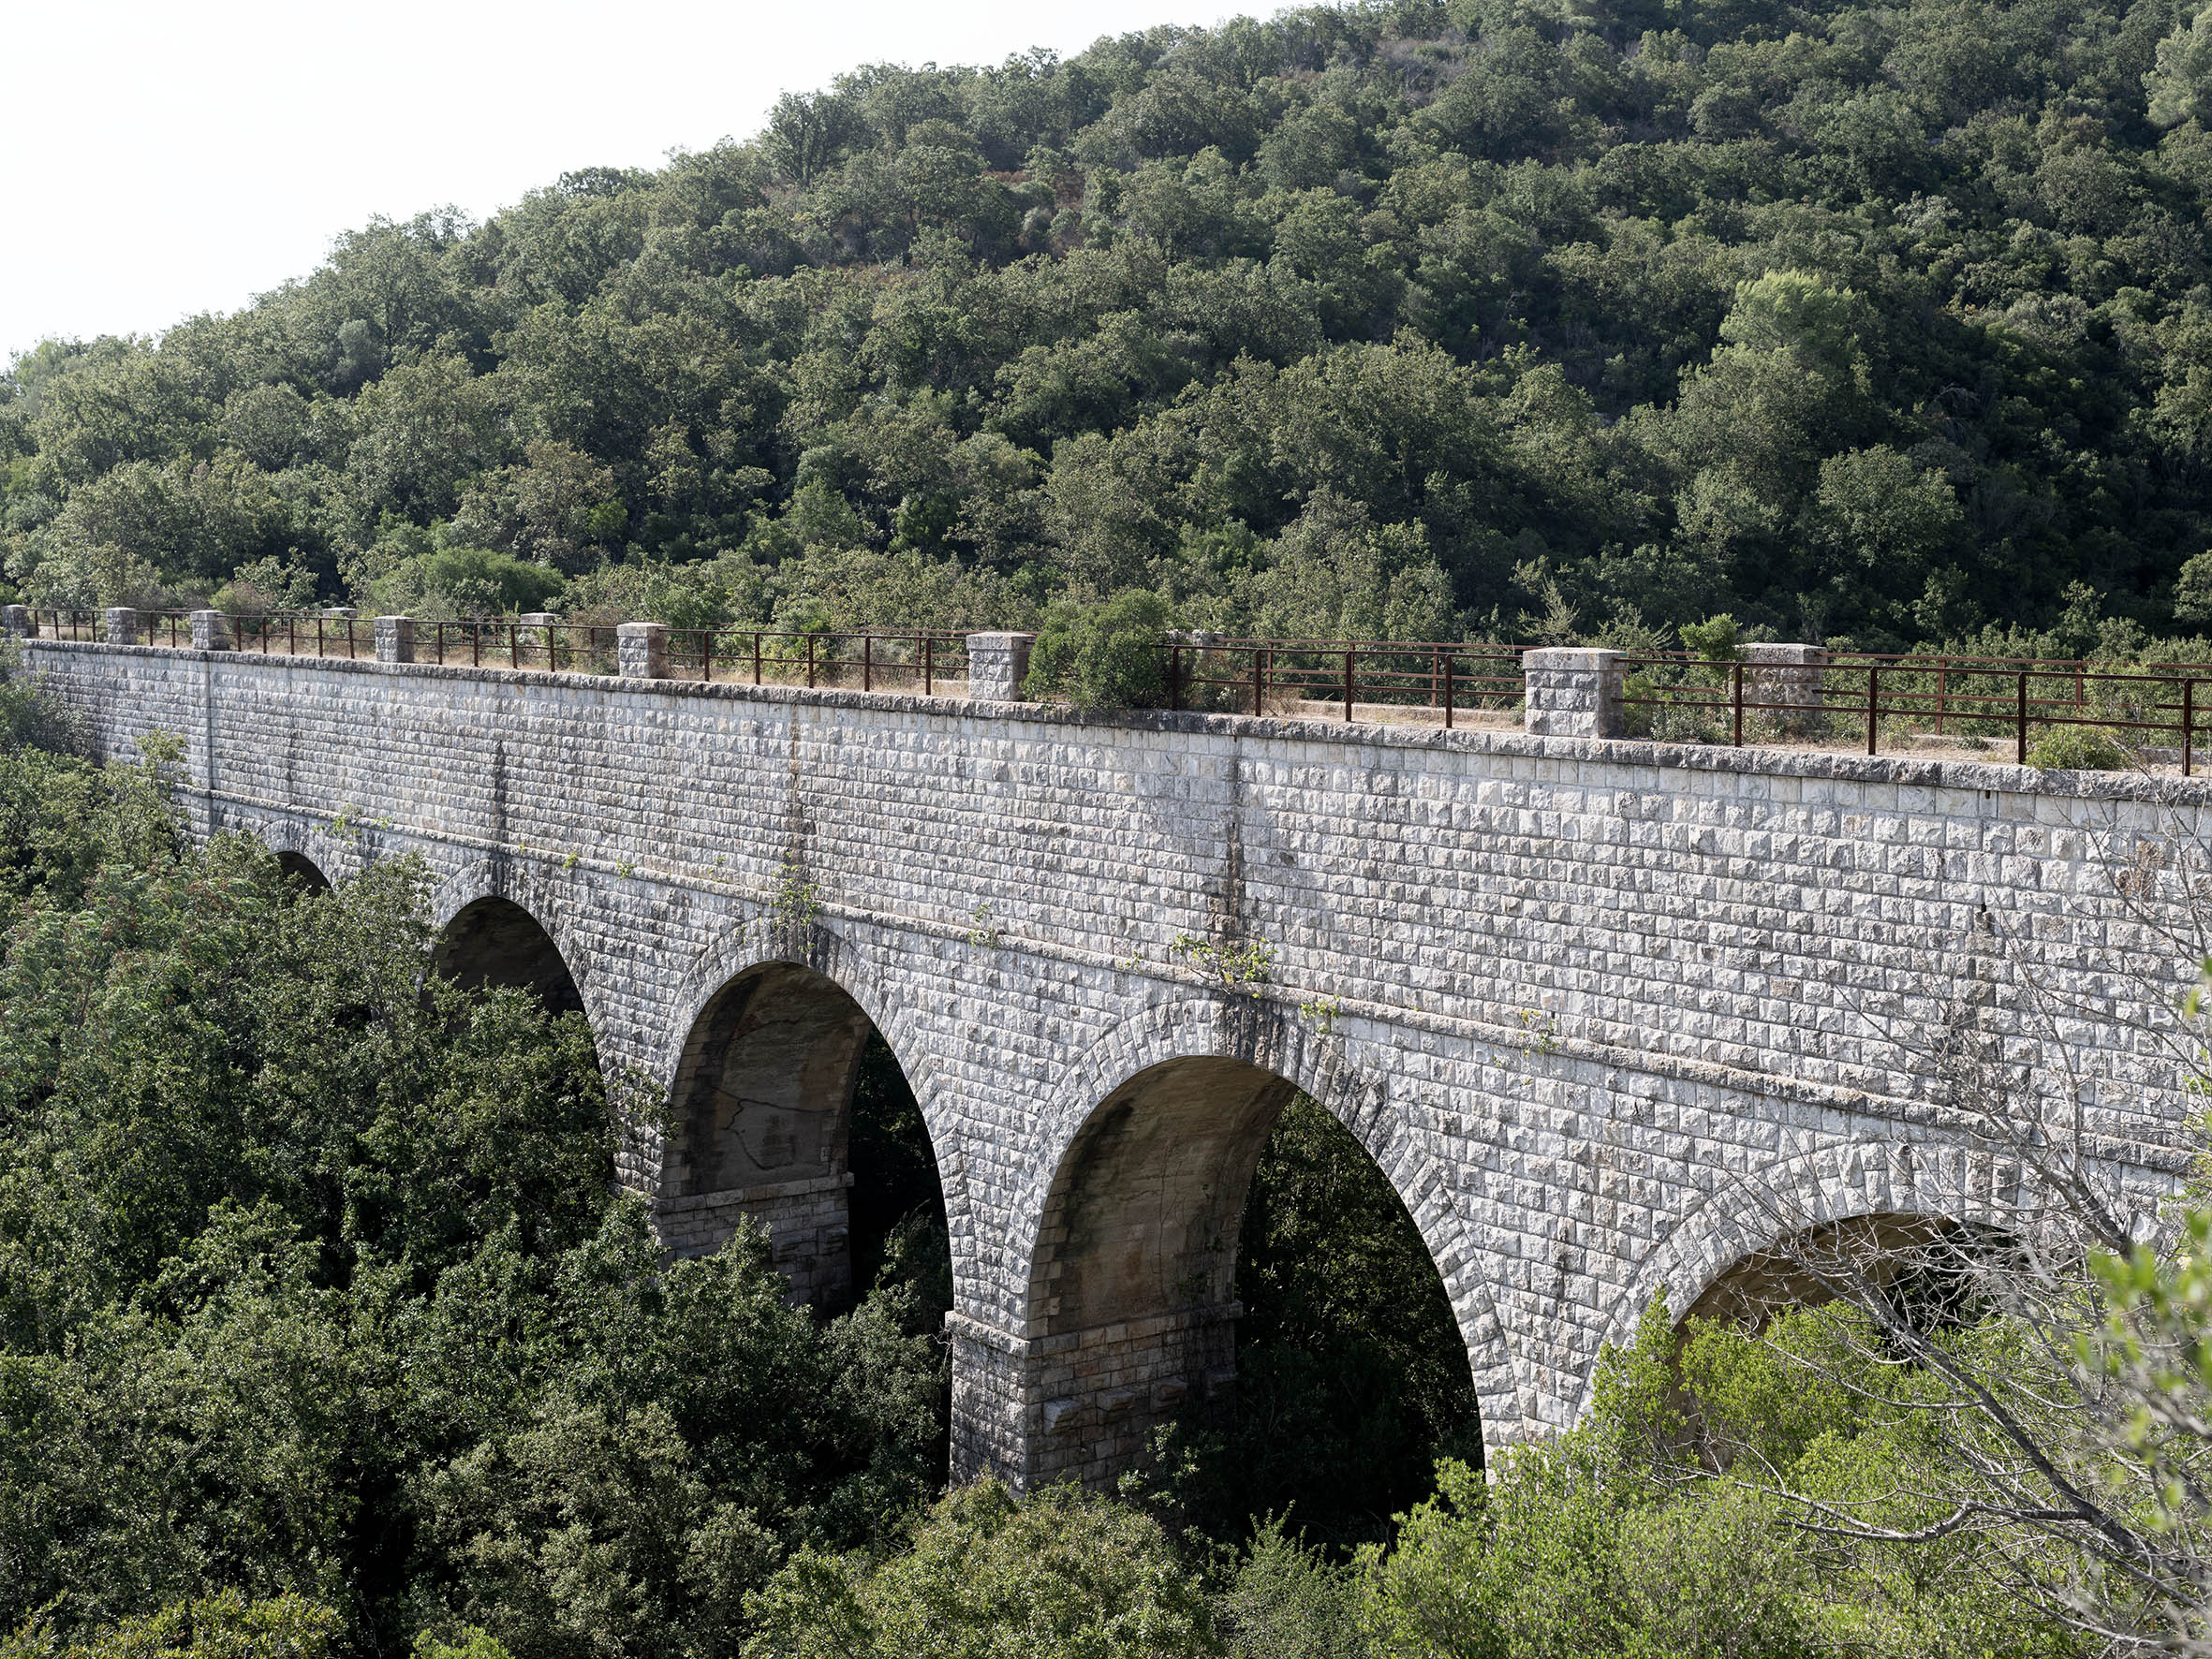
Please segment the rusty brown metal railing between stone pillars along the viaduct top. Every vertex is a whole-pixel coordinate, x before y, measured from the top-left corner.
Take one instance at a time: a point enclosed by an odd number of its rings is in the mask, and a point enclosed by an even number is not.
[[[188,648],[188,611],[11,611],[31,635],[106,641],[124,626],[135,644]],[[281,657],[376,655],[376,624],[345,613],[228,615],[228,646]],[[18,626],[18,624],[11,624]],[[553,672],[622,672],[613,622],[542,617],[416,619],[411,661]],[[679,681],[916,690],[942,695],[967,679],[967,630],[664,628],[657,672]],[[2011,739],[2026,763],[2039,732],[2095,728],[2135,759],[2197,772],[2212,703],[2212,664],[2090,664],[2044,657],[1931,653],[1818,653],[1805,659],[1712,661],[1688,653],[1615,657],[1630,737],[1692,743],[1882,743],[1938,739],[1975,748]],[[1155,695],[1170,710],[1416,719],[1451,728],[1462,717],[1520,708],[1522,648],[1471,641],[1259,639],[1172,635],[1159,644]]]

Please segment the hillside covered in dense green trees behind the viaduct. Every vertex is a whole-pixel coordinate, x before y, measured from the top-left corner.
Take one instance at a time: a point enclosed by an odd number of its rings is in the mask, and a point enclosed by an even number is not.
[[[2208,117],[2181,0],[1402,0],[858,69],[659,173],[369,223],[234,316],[22,356],[7,582],[2194,630]]]

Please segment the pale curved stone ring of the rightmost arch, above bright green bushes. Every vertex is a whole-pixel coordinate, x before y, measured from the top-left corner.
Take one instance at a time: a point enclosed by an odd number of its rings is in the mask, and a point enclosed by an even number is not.
[[[2017,1164],[1942,1139],[1840,1139],[1739,1175],[1699,1199],[1644,1256],[1606,1316],[1604,1343],[1635,1340],[1659,1292],[1686,1314],[1739,1263],[1785,1239],[1851,1223],[2002,1228],[2020,1214]],[[1577,1416],[1597,1389],[1584,1376]]]

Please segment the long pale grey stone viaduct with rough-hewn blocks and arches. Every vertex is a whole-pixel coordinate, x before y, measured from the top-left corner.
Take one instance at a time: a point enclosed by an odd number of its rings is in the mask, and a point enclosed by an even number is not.
[[[2212,830],[2205,785],[644,659],[27,659],[106,754],[179,734],[201,832],[332,878],[420,854],[456,971],[568,1000],[670,1091],[622,1177],[672,1248],[748,1212],[803,1294],[845,1283],[874,1026],[945,1183],[956,1473],[1099,1480],[1234,1385],[1239,1214],[1292,1091],[1405,1199],[1493,1447],[1794,1225],[2006,1212],[2020,1168],[1944,1055],[1997,1044],[2008,1110],[2119,1183],[2185,1155],[2192,947],[2143,872]],[[1272,969],[1230,984],[1190,938]]]

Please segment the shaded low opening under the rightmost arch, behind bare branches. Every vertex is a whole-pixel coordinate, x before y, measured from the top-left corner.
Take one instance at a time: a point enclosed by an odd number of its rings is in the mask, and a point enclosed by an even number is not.
[[[1681,1323],[1763,1329],[1785,1310],[1880,1294],[1913,1325],[1936,1329],[1971,1312],[1975,1263],[1993,1248],[1997,1234],[1931,1214],[1827,1221],[1736,1261],[1681,1312]]]

